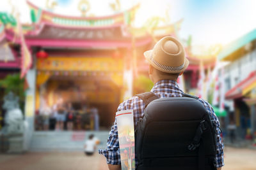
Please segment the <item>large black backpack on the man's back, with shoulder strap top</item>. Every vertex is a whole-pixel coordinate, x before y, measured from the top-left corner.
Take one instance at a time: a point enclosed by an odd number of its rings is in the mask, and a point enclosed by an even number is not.
[[[137,170],[216,169],[216,129],[198,97],[136,96],[146,104],[135,131]]]

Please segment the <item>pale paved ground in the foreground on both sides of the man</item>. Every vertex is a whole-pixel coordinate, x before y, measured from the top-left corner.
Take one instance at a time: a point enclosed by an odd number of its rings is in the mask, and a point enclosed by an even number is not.
[[[92,157],[79,152],[65,153],[25,153],[23,155],[0,155],[1,170],[40,170],[40,169],[108,169],[101,155]],[[255,170],[256,150],[247,148],[225,148],[225,167],[223,170]]]

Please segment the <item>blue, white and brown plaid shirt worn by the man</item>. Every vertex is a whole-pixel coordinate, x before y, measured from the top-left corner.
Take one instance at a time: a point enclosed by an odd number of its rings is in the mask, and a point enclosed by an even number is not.
[[[151,92],[154,92],[158,97],[181,97],[184,92],[179,89],[176,81],[173,80],[160,80],[158,81],[154,87],[152,88]],[[204,101],[203,99],[198,99],[201,103],[204,104],[206,110],[210,114],[212,121],[217,127],[218,136],[217,136],[217,152],[216,152],[216,167],[224,166],[223,162],[223,148],[224,145],[221,141],[220,137],[220,122],[216,117],[211,105]],[[134,114],[134,129],[136,129],[139,119],[143,116],[145,109],[145,103],[143,103],[142,99],[137,96],[131,97],[121,103],[118,106],[118,111],[121,110],[133,110]],[[119,150],[119,143],[118,143],[118,131],[116,121],[114,125],[111,127],[111,131],[109,132],[108,138],[108,148],[106,150],[99,150],[99,153],[104,155],[107,158],[108,164],[118,165],[121,164],[120,159],[120,150]],[[136,161],[137,163],[137,161]]]

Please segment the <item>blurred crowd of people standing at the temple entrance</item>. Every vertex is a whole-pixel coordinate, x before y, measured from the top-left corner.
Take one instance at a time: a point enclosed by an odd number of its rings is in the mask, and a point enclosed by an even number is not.
[[[72,103],[58,102],[51,108],[44,107],[36,111],[35,129],[37,131],[98,131],[98,110],[86,105],[81,110],[75,110]]]

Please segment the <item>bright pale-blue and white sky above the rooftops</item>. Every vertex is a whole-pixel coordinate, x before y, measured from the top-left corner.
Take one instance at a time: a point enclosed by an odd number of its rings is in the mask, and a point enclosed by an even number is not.
[[[36,6],[45,9],[46,0],[29,0]],[[54,13],[62,15],[81,15],[77,4],[81,0],[49,0],[57,1]],[[109,3],[115,0],[88,0],[88,15],[113,15]],[[20,20],[30,22],[30,11],[26,0],[1,0],[0,11],[12,11],[10,2],[19,10]],[[192,45],[211,46],[227,45],[234,39],[256,29],[256,1],[254,0],[120,0],[122,11],[140,3],[136,14],[135,25],[140,27],[149,17],[165,17],[166,11],[170,23],[184,19],[179,37],[186,39],[192,36]]]

